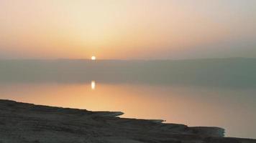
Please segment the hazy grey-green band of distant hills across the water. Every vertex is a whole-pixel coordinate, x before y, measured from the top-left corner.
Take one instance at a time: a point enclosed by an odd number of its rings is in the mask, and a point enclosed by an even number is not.
[[[1,82],[132,82],[256,87],[256,59],[0,60]]]

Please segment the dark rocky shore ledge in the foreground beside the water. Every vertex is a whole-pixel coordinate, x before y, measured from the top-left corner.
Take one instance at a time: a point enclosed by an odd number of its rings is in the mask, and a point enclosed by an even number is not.
[[[119,118],[122,112],[47,107],[0,99],[0,143],[256,143],[224,137],[219,127]]]

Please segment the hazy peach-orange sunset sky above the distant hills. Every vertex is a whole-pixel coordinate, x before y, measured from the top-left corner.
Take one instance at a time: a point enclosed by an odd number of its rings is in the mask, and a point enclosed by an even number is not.
[[[256,57],[255,0],[0,0],[0,59]]]

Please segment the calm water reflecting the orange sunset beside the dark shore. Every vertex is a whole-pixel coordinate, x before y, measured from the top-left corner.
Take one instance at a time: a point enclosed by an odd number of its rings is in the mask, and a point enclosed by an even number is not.
[[[147,84],[0,84],[0,98],[57,107],[122,111],[123,117],[217,126],[256,138],[256,89]]]

